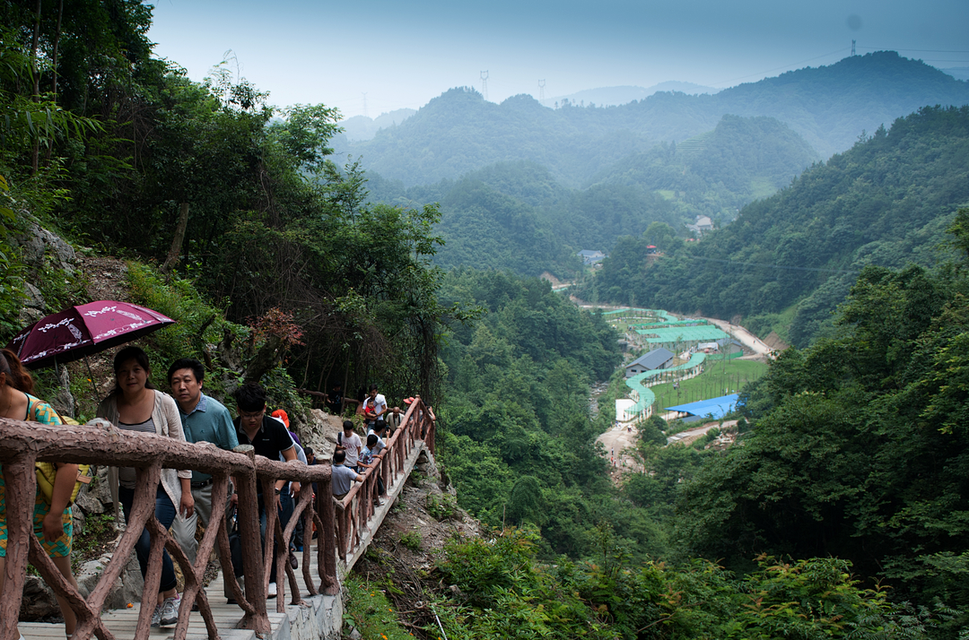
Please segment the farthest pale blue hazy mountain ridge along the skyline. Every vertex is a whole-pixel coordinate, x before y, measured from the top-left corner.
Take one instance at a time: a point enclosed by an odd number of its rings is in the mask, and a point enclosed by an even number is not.
[[[364,168],[407,186],[456,178],[496,162],[531,160],[578,187],[656,142],[680,142],[726,114],[769,116],[823,158],[920,107],[969,104],[969,84],[920,61],[880,51],[800,69],[715,95],[660,92],[620,107],[542,107],[529,96],[501,105],[452,89],[372,140],[337,146]]]

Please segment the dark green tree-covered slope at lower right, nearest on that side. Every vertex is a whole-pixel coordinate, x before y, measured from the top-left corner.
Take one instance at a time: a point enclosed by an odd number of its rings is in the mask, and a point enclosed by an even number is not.
[[[966,624],[969,209],[951,229],[956,259],[865,267],[836,337],[785,351],[745,394],[744,446],[679,495],[694,551],[850,559],[896,601],[962,609],[949,637]]]

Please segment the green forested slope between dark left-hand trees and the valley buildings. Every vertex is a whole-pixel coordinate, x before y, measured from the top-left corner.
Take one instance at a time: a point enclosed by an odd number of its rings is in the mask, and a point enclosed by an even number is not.
[[[549,557],[586,553],[585,531],[603,519],[641,552],[660,552],[656,525],[619,506],[593,446],[602,424],[589,415],[589,384],[608,380],[621,359],[609,324],[537,278],[453,270],[441,295],[486,312],[455,327],[444,351],[441,455],[460,503],[492,526],[503,517],[541,526]]]

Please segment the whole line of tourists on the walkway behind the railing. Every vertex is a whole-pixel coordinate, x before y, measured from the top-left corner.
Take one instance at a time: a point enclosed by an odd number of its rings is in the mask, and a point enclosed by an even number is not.
[[[233,393],[236,417],[222,403],[203,392],[205,370],[203,364],[193,358],[182,358],[172,363],[168,370],[168,383],[171,394],[159,390],[151,381],[151,366],[148,356],[139,347],[126,347],[114,356],[114,388],[100,403],[97,415],[105,418],[121,430],[153,433],[157,436],[172,438],[179,442],[211,442],[221,449],[233,450],[239,444],[250,444],[256,455],[269,460],[298,460],[304,465],[319,464],[319,459],[309,446],[304,447],[295,431],[291,430],[287,411],[276,409],[267,412],[266,389],[257,382],[246,382]],[[16,354],[11,350],[0,350],[0,417],[18,420],[34,420],[46,424],[63,424],[65,418],[43,400],[31,395],[34,381],[24,369]],[[408,398],[406,403],[412,402]],[[357,433],[353,420],[343,422],[343,431],[337,436],[336,450],[332,458],[331,489],[333,499],[340,501],[349,492],[354,482],[363,480],[367,469],[378,466],[387,450],[386,438],[389,435],[387,418],[398,416],[400,410],[389,410],[386,398],[378,393],[377,384],[370,384],[367,393],[360,397],[345,397],[342,385],[336,384],[327,394],[329,411],[337,415],[348,408],[362,417],[365,440]],[[49,470],[42,470],[44,463],[38,463],[38,490],[34,505],[34,533],[41,541],[47,556],[61,571],[67,581],[77,588],[71,570],[71,551],[73,544],[73,520],[71,503],[77,495],[78,481],[89,480],[79,471],[78,465],[47,464]],[[51,477],[52,490],[49,495],[42,489],[41,473],[46,471]],[[115,504],[119,504],[127,521],[131,517],[138,482],[138,471],[134,468],[109,469],[109,487]],[[297,481],[277,480],[273,495],[265,496],[261,482],[256,483],[257,501],[260,514],[260,536],[265,548],[266,508],[275,508],[280,524],[285,531],[294,512],[296,500],[302,491],[316,492],[317,487],[303,487]],[[5,562],[8,542],[5,483],[0,466],[0,592],[3,590],[6,575]],[[383,505],[386,489],[380,475],[377,476],[377,491],[370,499]],[[227,523],[234,520],[234,506],[238,496],[234,483],[230,483],[228,495],[213,495],[213,478],[210,474],[194,470],[164,469],[161,481],[155,492],[154,514],[172,537],[184,550],[188,559],[195,563],[199,550],[196,531],[199,524],[208,527],[212,515],[213,501],[223,500],[226,504]],[[288,561],[292,568],[298,565],[296,552],[302,551],[308,543],[300,518],[288,549]],[[233,536],[231,536],[232,540]],[[235,536],[237,540],[237,535]],[[280,541],[276,541],[280,544]],[[237,546],[237,542],[236,542]],[[141,567],[142,577],[147,572],[151,537],[147,529],[135,545],[135,552]],[[217,547],[221,556],[221,550]],[[242,586],[242,571],[239,559],[230,559],[234,565],[235,578]],[[174,565],[168,551],[162,554],[162,578],[157,600],[151,618],[152,626],[174,625],[178,620],[180,596],[176,591],[177,579]],[[273,562],[269,574],[268,597],[276,596],[276,563]],[[234,592],[229,576],[224,595],[230,603],[234,602]],[[65,633],[71,640],[77,619],[66,600],[58,597],[58,604],[64,616]]]

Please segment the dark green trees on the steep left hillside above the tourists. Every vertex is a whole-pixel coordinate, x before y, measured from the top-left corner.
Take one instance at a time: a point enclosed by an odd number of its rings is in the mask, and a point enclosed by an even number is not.
[[[209,301],[186,310],[195,336],[169,359],[196,355],[259,380],[285,357],[297,385],[382,380],[397,396],[439,396],[437,336],[460,316],[437,304],[440,214],[366,203],[359,168],[328,160],[336,109],[272,106],[226,63],[189,80],[151,55],[141,2],[42,9],[0,10],[11,25],[0,42],[4,343],[24,279],[39,279],[17,259],[16,236],[38,220],[184,278]],[[78,293],[53,282],[59,290],[41,285],[55,289],[50,306]]]

